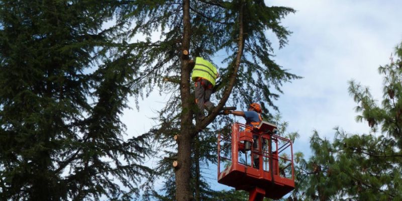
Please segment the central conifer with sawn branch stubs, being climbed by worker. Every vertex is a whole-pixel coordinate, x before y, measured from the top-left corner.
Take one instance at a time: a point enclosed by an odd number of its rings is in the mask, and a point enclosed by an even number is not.
[[[172,137],[179,134],[177,152],[170,150],[172,156],[168,157],[179,164],[174,170],[176,199],[199,197],[192,195],[190,185],[192,162],[198,161],[191,157],[202,153],[193,149],[204,146],[193,145],[202,142],[199,132],[216,120],[225,104],[267,103],[263,104],[263,110],[268,114],[268,107],[275,108],[272,99],[278,97],[273,91],[281,92],[283,82],[298,78],[271,60],[273,48],[267,37],[267,31],[272,31],[279,46],[285,45],[290,32],[280,25],[280,20],[294,11],[250,0],[131,1],[121,8],[119,21],[134,25],[127,36],[147,37],[145,41],[128,44],[124,50],[133,56],[145,57],[136,86],[148,93],[156,85],[171,94],[160,113],[161,124],[153,133],[163,137],[165,147],[170,147]],[[156,30],[161,31],[161,37],[152,41]],[[183,54],[183,50],[189,50],[189,56]],[[224,58],[227,66],[219,69],[222,78],[215,88],[219,103],[207,118],[194,124],[193,114],[197,109],[190,84],[189,60],[195,56],[211,60],[220,50],[226,51],[228,56]]]

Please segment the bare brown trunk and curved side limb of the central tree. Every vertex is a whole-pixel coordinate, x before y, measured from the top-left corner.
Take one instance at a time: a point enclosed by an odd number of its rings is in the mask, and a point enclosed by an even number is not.
[[[190,24],[190,6],[189,0],[183,0],[183,39],[182,39],[182,50],[189,50],[190,47],[190,37],[191,37],[191,24]],[[207,127],[218,115],[223,106],[226,104],[233,86],[236,81],[237,73],[240,67],[241,58],[243,56],[245,37],[243,34],[243,5],[241,6],[239,12],[239,37],[238,37],[238,50],[236,54],[236,59],[233,66],[233,73],[230,75],[229,84],[225,88],[224,95],[220,100],[217,107],[214,109],[211,115],[209,115],[205,120],[198,123],[193,128],[192,115],[193,111],[191,107],[193,105],[191,93],[190,93],[190,72],[191,67],[189,65],[190,61],[187,56],[181,55],[181,77],[180,77],[180,97],[181,97],[181,123],[180,123],[180,141],[177,142],[177,161],[180,167],[176,169],[176,200],[177,201],[189,201],[193,200],[192,191],[190,189],[190,153],[191,153],[191,141],[193,137],[196,136],[197,131]],[[185,52],[185,51],[184,51]],[[199,182],[198,182],[199,183]],[[197,184],[199,185],[199,184]],[[199,194],[199,193],[198,193]]]

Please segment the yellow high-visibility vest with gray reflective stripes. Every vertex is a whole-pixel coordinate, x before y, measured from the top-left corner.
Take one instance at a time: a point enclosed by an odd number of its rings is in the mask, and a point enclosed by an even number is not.
[[[201,58],[195,58],[194,69],[192,69],[191,79],[195,81],[197,77],[202,77],[212,83],[215,86],[215,80],[217,79],[217,68],[209,61]]]

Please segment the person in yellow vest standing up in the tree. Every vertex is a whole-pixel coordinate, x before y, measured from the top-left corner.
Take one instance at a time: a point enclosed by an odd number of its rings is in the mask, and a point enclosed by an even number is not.
[[[204,118],[205,108],[211,112],[215,107],[210,102],[210,98],[218,77],[217,68],[211,62],[201,57],[195,58],[191,79],[195,82],[195,104],[198,106],[197,121]]]

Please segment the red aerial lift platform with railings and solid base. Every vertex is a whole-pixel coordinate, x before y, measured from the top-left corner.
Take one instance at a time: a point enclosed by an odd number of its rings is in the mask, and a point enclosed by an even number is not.
[[[250,201],[279,199],[292,191],[292,143],[275,130],[275,125],[262,121],[256,128],[235,123],[231,133],[220,133],[218,182],[248,191]]]

